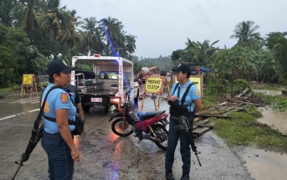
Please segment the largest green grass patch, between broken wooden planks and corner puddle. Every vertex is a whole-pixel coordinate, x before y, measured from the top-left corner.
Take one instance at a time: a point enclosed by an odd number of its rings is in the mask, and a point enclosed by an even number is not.
[[[257,114],[258,115],[258,114]],[[232,112],[230,119],[213,119],[214,131],[229,146],[248,145],[287,152],[287,134],[255,120],[254,111]]]

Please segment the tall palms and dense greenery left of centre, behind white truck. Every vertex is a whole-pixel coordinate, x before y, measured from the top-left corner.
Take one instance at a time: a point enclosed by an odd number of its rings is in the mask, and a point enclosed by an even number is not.
[[[76,10],[60,7],[60,0],[0,4],[0,88],[20,84],[24,73],[45,74],[44,67],[54,58],[71,64],[74,55],[100,53],[131,60],[135,52],[136,36],[127,34],[116,18],[81,19]]]

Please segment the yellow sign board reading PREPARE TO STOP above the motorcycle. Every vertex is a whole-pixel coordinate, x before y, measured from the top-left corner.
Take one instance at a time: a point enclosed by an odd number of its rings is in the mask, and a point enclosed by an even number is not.
[[[163,92],[163,76],[147,76],[145,81],[145,92],[147,93],[162,93]]]

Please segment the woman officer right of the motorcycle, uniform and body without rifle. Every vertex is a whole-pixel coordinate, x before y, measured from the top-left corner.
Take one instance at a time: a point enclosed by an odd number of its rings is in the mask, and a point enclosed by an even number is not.
[[[179,82],[175,83],[172,87],[171,96],[167,99],[168,102],[178,102],[178,105],[181,105],[181,100],[183,98],[183,94],[187,90],[187,87],[192,82],[189,81],[189,75],[191,74],[191,69],[188,64],[179,64],[178,67],[172,69],[172,71],[176,72],[176,79]],[[176,86],[176,84],[178,84]],[[201,95],[198,88],[193,84],[185,98],[183,103],[189,111],[188,120],[189,125],[192,127],[194,122],[194,113],[200,111],[202,108],[201,103]],[[180,154],[183,161],[183,175],[181,177],[182,180],[189,179],[189,172],[191,166],[191,148],[189,146],[189,141],[187,140],[187,136],[183,131],[174,131],[174,127],[178,125],[178,122],[175,118],[173,118],[172,112],[170,112],[170,120],[169,120],[169,134],[167,140],[167,152],[165,156],[165,177],[166,179],[174,179],[174,175],[172,174],[172,165],[174,163],[174,152],[176,150],[176,145],[178,143],[178,139],[180,139]]]

